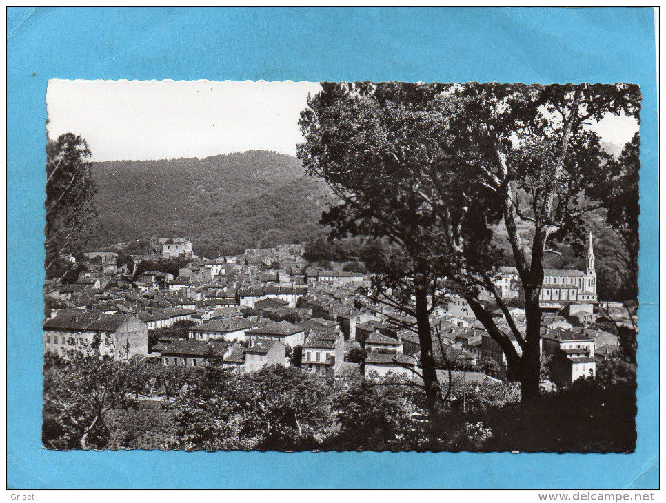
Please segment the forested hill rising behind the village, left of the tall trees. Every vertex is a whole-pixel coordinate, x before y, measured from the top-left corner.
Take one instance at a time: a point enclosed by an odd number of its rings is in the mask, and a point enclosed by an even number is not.
[[[318,225],[325,184],[298,159],[252,151],[205,159],[94,163],[103,247],[148,236],[190,236],[201,256],[308,240]]]

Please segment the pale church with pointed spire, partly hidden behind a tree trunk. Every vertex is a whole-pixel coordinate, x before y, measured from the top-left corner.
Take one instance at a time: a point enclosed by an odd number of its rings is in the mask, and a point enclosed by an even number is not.
[[[502,267],[501,276],[495,286],[502,298],[521,296],[520,279],[516,267]],[[596,271],[592,232],[587,242],[585,271],[575,269],[544,269],[541,287],[541,302],[594,302],[596,301]]]

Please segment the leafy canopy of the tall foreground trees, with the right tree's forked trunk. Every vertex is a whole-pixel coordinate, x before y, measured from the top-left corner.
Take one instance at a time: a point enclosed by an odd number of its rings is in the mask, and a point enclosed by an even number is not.
[[[305,169],[343,201],[322,223],[332,236],[373,236],[394,245],[374,287],[393,297],[396,309],[412,309],[414,298],[416,316],[419,295],[430,309],[443,292],[465,298],[521,380],[523,401],[534,402],[545,255],[563,243],[581,251],[583,216],[608,205],[611,158],[587,125],[609,114],[638,119],[638,86],[363,82],[322,88],[301,112],[305,143],[298,152]],[[507,234],[521,280],[525,331],[494,286],[502,265],[492,243],[496,225]],[[485,291],[508,331],[479,299]],[[429,305],[420,304],[423,320]]]

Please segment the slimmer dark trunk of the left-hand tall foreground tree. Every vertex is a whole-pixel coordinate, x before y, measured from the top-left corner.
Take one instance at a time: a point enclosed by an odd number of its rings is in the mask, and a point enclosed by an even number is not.
[[[416,325],[418,343],[421,345],[421,373],[430,409],[431,420],[436,420],[443,410],[442,391],[437,380],[435,360],[432,355],[432,334],[430,333],[430,314],[428,313],[427,290],[416,287]]]

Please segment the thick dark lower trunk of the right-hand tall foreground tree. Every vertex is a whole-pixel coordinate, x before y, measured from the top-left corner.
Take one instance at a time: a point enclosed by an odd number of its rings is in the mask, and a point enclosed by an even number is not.
[[[541,307],[540,288],[525,288],[525,347],[521,358],[521,393],[523,404],[531,407],[538,402],[541,370]]]

